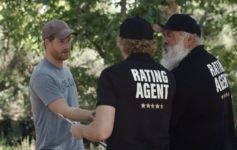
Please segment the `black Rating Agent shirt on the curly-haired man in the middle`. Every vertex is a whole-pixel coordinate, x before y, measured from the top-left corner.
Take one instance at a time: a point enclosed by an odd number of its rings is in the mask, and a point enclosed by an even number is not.
[[[168,150],[175,81],[148,54],[131,54],[105,69],[97,105],[115,107],[108,150]]]

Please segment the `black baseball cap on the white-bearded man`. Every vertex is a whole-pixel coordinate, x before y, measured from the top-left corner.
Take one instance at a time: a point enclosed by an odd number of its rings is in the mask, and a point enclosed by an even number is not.
[[[162,29],[184,31],[192,34],[197,34],[201,37],[201,29],[197,22],[187,14],[172,15],[165,25],[159,24]]]

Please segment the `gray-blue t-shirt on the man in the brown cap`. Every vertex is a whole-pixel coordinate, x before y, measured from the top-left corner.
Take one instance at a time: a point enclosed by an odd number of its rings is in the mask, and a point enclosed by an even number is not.
[[[29,90],[36,150],[82,150],[82,140],[76,140],[70,134],[71,125],[47,107],[60,98],[69,106],[78,107],[77,89],[69,68],[58,68],[43,59],[32,73]]]

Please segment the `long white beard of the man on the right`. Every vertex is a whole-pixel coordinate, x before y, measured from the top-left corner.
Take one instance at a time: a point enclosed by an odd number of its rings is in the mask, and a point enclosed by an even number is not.
[[[190,49],[184,48],[182,39],[174,46],[165,46],[165,49],[162,50],[160,63],[168,70],[173,70],[190,51]]]

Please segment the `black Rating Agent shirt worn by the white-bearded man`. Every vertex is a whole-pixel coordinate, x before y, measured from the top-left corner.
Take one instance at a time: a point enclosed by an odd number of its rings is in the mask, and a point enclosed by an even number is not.
[[[234,150],[231,93],[221,63],[198,46],[172,72],[171,150]]]

